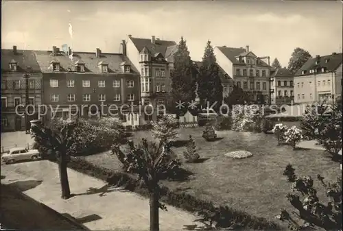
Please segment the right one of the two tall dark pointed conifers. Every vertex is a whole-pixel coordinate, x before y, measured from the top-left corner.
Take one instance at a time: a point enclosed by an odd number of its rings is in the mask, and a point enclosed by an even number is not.
[[[202,66],[200,67],[200,75],[198,77],[198,96],[200,105],[207,107],[213,106],[215,111],[218,111],[223,100],[223,86],[220,79],[219,66],[211,46],[211,41],[208,41],[202,58]]]

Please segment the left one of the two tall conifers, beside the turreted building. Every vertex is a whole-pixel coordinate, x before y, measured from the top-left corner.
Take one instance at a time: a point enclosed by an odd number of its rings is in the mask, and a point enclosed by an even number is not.
[[[174,70],[171,73],[171,97],[182,101],[187,109],[188,103],[196,99],[196,66],[189,56],[186,40],[181,37],[178,51],[174,53]]]

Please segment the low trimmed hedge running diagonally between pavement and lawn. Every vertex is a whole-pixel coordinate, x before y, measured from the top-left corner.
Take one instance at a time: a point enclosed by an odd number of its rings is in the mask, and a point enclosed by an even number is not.
[[[123,188],[128,191],[148,196],[146,187],[137,182],[136,175],[121,171],[113,171],[104,167],[97,167],[80,158],[72,158],[68,167],[86,175],[104,180],[108,182],[108,184],[123,186]],[[279,226],[277,226],[276,223],[268,221],[262,217],[255,217],[246,212],[228,208],[228,206],[215,206],[212,202],[198,199],[197,197],[185,192],[180,193],[170,191],[165,186],[161,186],[161,201],[189,212],[215,212],[218,216],[215,216],[217,218],[214,219],[214,221],[220,224],[222,228],[227,228],[233,223],[240,223],[244,227],[255,230],[279,230]]]

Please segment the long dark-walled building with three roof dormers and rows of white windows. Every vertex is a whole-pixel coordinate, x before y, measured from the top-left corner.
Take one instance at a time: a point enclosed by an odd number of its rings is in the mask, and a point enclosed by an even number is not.
[[[139,72],[121,53],[36,51],[43,73],[43,102],[49,107],[47,118],[69,114],[126,114],[126,108],[139,103]],[[123,105],[128,106],[123,106]],[[102,106],[103,105],[103,106]],[[77,109],[78,108],[78,109]],[[122,110],[121,110],[122,108]],[[137,107],[126,115],[130,125],[139,125]],[[126,113],[121,113],[126,112]]]

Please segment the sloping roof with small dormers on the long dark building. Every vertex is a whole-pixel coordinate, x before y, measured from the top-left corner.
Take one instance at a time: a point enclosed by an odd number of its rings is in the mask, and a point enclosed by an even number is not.
[[[51,51],[35,51],[36,59],[43,73],[52,73],[51,61],[56,60],[60,63],[60,71],[74,71],[75,64],[83,63],[85,73],[102,73],[100,64],[108,64],[108,73],[123,73],[120,64],[125,62],[130,64],[132,73],[138,73],[138,70],[130,60],[121,53],[102,53],[99,58],[95,52],[73,52],[73,60],[67,53],[60,51],[58,56],[51,56]]]

